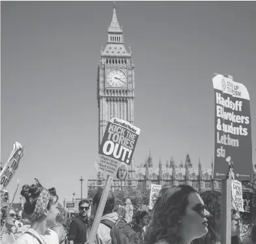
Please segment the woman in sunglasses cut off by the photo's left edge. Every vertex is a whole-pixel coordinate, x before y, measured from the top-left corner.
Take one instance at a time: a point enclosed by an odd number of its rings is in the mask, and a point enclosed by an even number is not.
[[[16,214],[14,210],[10,210],[8,213],[7,206],[1,208],[1,233],[3,228],[1,243],[5,243],[5,244],[14,243],[15,237],[12,232],[12,227],[15,225],[15,221],[16,221]]]

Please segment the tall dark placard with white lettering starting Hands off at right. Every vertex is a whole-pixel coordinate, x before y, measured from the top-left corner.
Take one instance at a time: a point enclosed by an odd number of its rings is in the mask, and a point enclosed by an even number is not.
[[[252,145],[249,93],[241,83],[217,74],[215,99],[214,178],[251,180]]]

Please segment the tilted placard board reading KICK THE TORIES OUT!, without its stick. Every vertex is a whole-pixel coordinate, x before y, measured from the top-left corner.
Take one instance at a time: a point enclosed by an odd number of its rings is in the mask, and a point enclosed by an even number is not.
[[[114,178],[124,180],[128,167],[132,162],[140,129],[120,118],[109,120],[102,143],[100,144],[96,169]],[[125,164],[125,165],[124,165]],[[119,167],[125,172],[117,172]],[[119,174],[118,174],[119,173]]]

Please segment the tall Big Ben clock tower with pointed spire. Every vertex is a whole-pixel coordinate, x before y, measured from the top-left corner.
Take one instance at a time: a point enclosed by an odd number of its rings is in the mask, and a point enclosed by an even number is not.
[[[124,35],[114,6],[107,44],[102,47],[98,64],[98,146],[111,116],[134,124],[134,62],[131,54],[131,49],[127,51],[124,46]],[[133,167],[134,159],[129,170]],[[97,178],[102,177],[98,173]]]

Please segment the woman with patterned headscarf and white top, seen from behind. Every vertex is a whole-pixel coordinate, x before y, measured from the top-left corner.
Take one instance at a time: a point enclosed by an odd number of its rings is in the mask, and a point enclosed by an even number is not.
[[[49,229],[59,214],[55,188],[45,189],[36,180],[35,185],[23,185],[21,195],[26,200],[23,211],[29,215],[31,226],[14,244],[59,244],[57,233]]]

